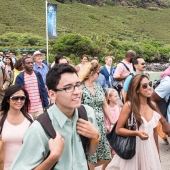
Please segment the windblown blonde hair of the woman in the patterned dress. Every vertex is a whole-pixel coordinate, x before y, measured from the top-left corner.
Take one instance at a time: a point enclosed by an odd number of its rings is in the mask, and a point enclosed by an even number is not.
[[[100,70],[100,65],[98,63],[85,63],[81,70],[78,72],[80,82],[85,82],[89,77],[95,72]]]

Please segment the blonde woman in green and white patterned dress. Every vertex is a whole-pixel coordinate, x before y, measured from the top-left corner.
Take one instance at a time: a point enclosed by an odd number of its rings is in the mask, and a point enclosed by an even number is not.
[[[82,103],[91,106],[96,114],[96,120],[100,132],[100,140],[97,151],[88,158],[90,170],[94,170],[96,166],[103,165],[105,170],[111,161],[110,145],[106,139],[106,125],[104,114],[108,117],[111,124],[113,118],[105,99],[102,87],[96,83],[100,73],[100,65],[98,63],[86,63],[79,72],[80,81],[84,83]]]

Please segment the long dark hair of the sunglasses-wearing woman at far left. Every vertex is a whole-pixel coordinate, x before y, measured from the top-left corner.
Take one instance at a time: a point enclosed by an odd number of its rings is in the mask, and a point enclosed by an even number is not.
[[[28,105],[30,103],[28,93],[21,85],[17,84],[17,85],[8,87],[7,91],[5,92],[5,96],[2,100],[1,110],[0,110],[0,116],[2,116],[2,119],[0,120],[0,127],[3,126],[3,123],[7,117],[7,114],[8,114],[8,111],[10,108],[10,104],[9,104],[10,97],[14,93],[16,93],[20,90],[22,90],[24,92],[24,95],[26,96],[25,103],[24,103],[23,107],[21,108],[21,112],[31,123],[33,122],[33,120],[31,119],[31,116],[28,114]]]

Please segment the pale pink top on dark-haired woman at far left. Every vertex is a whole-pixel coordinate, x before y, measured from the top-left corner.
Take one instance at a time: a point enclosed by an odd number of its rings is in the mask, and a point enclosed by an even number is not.
[[[24,121],[17,126],[14,126],[6,119],[2,129],[2,139],[5,141],[5,162],[4,170],[9,170],[17,152],[19,151],[23,135],[28,129],[30,121],[25,118]]]

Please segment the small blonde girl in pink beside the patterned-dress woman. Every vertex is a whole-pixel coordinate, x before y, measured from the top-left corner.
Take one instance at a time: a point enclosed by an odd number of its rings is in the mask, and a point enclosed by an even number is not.
[[[112,88],[108,88],[105,92],[105,97],[106,97],[106,101],[109,105],[111,114],[112,114],[112,118],[113,118],[113,123],[116,123],[116,121],[119,118],[119,114],[120,114],[120,106],[118,104],[118,92],[115,89]],[[107,127],[107,131],[110,132],[110,121],[107,117],[105,117],[105,124]]]

